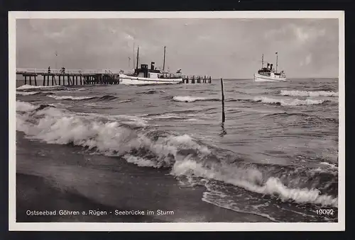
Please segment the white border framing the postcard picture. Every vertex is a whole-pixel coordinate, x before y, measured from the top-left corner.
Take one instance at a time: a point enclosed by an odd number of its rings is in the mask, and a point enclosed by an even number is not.
[[[16,19],[21,18],[337,18],[339,19],[339,194],[337,223],[103,223],[16,222]],[[345,40],[344,11],[9,11],[10,231],[344,231]]]

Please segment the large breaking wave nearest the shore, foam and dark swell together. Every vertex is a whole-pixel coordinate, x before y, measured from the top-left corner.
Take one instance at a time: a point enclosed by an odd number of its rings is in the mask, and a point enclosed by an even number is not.
[[[190,135],[126,125],[124,118],[129,117],[16,102],[16,130],[33,139],[85,147],[138,166],[169,168],[173,176],[214,179],[282,201],[337,207],[337,172],[247,163]]]

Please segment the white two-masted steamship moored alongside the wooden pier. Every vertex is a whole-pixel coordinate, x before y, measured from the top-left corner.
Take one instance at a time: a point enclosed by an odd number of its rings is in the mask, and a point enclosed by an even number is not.
[[[120,84],[127,85],[140,85],[140,84],[180,84],[182,83],[181,69],[176,74],[169,74],[164,72],[165,68],[165,47],[164,47],[164,63],[163,71],[154,67],[155,62],[151,62],[151,69],[148,68],[148,64],[141,64],[141,68],[138,68],[139,60],[139,47],[137,50],[137,65],[133,74],[124,74],[120,72],[119,82]]]

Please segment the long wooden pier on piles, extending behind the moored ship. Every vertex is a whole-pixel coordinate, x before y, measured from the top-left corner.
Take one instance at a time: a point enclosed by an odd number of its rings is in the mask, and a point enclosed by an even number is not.
[[[87,84],[119,84],[119,74],[111,70],[83,69],[16,69],[16,79],[23,77],[25,85],[34,86],[80,86]],[[174,74],[169,74],[173,76]],[[211,76],[182,75],[182,84],[211,84]]]

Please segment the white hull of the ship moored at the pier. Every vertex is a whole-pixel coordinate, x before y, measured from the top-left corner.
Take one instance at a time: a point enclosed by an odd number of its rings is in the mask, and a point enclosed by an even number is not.
[[[159,79],[155,77],[145,78],[142,76],[127,76],[119,74],[119,83],[126,85],[145,85],[145,84],[180,84],[182,79]]]

